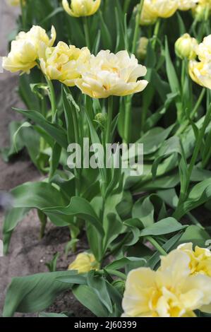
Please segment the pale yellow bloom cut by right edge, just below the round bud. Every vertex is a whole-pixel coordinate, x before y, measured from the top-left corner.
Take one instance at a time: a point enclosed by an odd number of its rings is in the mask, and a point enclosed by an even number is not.
[[[195,83],[211,89],[211,62],[190,61],[189,75]]]

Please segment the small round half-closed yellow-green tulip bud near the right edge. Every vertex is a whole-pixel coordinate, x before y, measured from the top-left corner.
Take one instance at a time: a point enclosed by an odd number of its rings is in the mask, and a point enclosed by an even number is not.
[[[175,52],[181,59],[193,60],[196,57],[198,42],[195,38],[185,33],[175,43]]]

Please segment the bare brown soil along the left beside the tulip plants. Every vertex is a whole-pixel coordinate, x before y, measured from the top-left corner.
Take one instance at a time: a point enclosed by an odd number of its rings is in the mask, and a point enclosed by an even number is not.
[[[1,0],[0,6],[0,54],[6,55],[6,36],[15,27],[17,10],[9,8],[6,5],[6,0]],[[17,84],[17,76],[10,73],[0,74],[0,148],[8,145],[8,124],[11,120],[18,119],[11,107],[23,107],[16,94]],[[18,184],[35,181],[39,178],[40,174],[24,153],[8,164],[5,164],[0,158],[0,191],[8,191]],[[2,238],[3,219],[3,213],[0,213],[0,239]],[[6,287],[11,278],[47,272],[45,263],[52,260],[56,252],[61,254],[57,264],[58,270],[66,270],[68,264],[75,258],[75,255],[69,255],[66,259],[64,255],[66,243],[70,239],[68,228],[54,227],[49,224],[47,225],[46,235],[42,240],[39,239],[39,233],[40,223],[37,213],[31,211],[13,232],[8,256],[0,258],[0,316],[4,307]],[[78,251],[84,249],[85,240],[82,240]],[[92,316],[87,309],[75,300],[71,292],[61,295],[54,305],[49,308],[49,311],[74,312],[76,316],[81,317]],[[16,314],[16,316],[37,316],[37,314]]]

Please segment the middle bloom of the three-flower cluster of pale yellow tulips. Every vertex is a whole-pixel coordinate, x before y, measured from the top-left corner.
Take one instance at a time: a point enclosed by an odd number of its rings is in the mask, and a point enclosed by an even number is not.
[[[78,49],[73,45],[59,42],[56,47],[47,48],[44,59],[40,59],[43,73],[50,80],[57,80],[68,86],[74,86],[77,78],[80,78],[78,66],[81,66],[90,58],[87,47]]]

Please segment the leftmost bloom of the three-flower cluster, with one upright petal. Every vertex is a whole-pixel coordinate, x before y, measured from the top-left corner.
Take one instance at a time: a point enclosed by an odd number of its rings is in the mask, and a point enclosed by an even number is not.
[[[3,68],[12,73],[22,71],[29,73],[37,65],[36,60],[44,57],[47,47],[52,47],[56,39],[56,30],[52,27],[49,39],[46,31],[34,25],[28,32],[20,32],[11,43],[11,52],[3,58]]]

